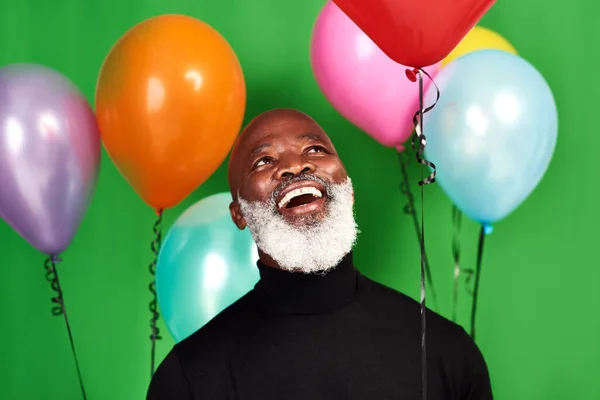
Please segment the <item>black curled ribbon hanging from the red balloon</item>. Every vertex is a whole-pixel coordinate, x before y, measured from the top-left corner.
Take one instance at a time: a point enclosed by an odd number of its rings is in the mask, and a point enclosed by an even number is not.
[[[427,332],[427,304],[425,301],[425,271],[426,271],[426,260],[425,260],[425,194],[424,194],[424,186],[429,185],[435,182],[435,165],[432,162],[429,162],[423,158],[423,153],[425,152],[425,146],[427,144],[427,140],[425,135],[423,134],[423,115],[433,109],[437,104],[440,98],[440,90],[431,78],[431,76],[422,69],[417,69],[419,79],[419,110],[413,116],[413,124],[415,125],[415,132],[417,139],[419,141],[418,146],[415,144],[415,140],[412,140],[412,147],[416,151],[416,158],[419,164],[422,164],[426,167],[432,169],[431,174],[424,178],[423,168],[421,168],[421,180],[419,181],[419,186],[421,187],[421,382],[422,382],[422,390],[423,390],[423,400],[427,400],[427,343],[426,343],[426,332]],[[423,108],[423,74],[427,75],[427,77],[431,80],[431,83],[434,85],[437,91],[437,98],[435,102],[427,107]],[[408,74],[407,74],[408,75]]]

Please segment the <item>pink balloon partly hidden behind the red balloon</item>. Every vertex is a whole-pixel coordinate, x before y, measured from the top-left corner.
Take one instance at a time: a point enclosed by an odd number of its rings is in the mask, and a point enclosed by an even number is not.
[[[419,109],[419,85],[406,77],[407,67],[386,56],[332,1],[317,17],[310,56],[333,107],[379,143],[403,150]],[[439,64],[424,69],[434,77]],[[423,83],[426,90],[429,79]]]

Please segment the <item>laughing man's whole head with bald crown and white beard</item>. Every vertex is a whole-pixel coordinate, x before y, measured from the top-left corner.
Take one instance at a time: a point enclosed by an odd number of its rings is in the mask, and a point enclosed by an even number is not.
[[[230,163],[231,215],[250,229],[261,260],[323,273],[352,250],[354,191],[331,141],[304,114],[258,118]]]

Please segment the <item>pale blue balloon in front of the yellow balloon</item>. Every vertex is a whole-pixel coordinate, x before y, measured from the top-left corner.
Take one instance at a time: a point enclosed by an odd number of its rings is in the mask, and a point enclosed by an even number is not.
[[[470,218],[489,225],[518,207],[542,179],[556,146],[550,87],[521,57],[481,50],[436,76],[440,101],[424,117],[425,158]],[[435,87],[426,104],[435,100]]]

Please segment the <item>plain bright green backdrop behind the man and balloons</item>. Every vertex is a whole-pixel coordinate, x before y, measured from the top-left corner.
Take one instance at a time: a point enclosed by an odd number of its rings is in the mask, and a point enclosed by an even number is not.
[[[322,5],[323,0],[5,0],[0,65],[54,67],[93,100],[102,60],[128,28],[164,13],[208,22],[230,41],[244,68],[246,120],[269,108],[295,107],[330,133],[356,185],[362,229],[357,266],[417,297],[418,245],[401,211],[396,154],[341,118],[312,77],[308,46]],[[546,177],[487,241],[478,343],[500,400],[600,398],[598,10],[586,0],[500,0],[482,21],[541,71],[560,117]],[[89,399],[141,399],[149,381],[147,284],[155,216],[106,154],[102,163],[96,195],[59,271]],[[225,172],[219,169],[169,210],[166,226],[192,202],[227,190]],[[426,188],[426,223],[440,311],[448,316],[451,204],[435,185]],[[466,267],[473,266],[477,230],[472,222],[464,224]],[[3,222],[0,243],[0,398],[79,399],[64,323],[50,312],[43,256]],[[466,324],[469,298],[461,294],[460,321]],[[166,339],[159,343],[159,359],[173,344],[161,327]]]

